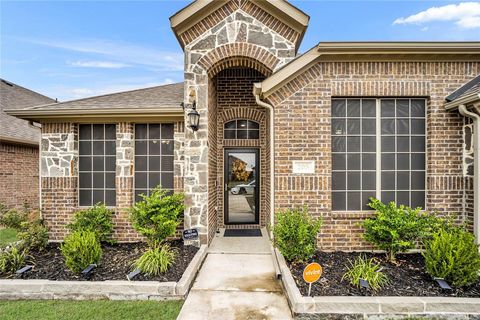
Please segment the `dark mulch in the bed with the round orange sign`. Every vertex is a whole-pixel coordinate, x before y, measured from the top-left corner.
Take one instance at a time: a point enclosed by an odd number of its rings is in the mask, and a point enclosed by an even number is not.
[[[397,264],[386,261],[384,254],[362,253],[367,258],[376,258],[383,267],[389,283],[377,292],[365,291],[352,286],[342,277],[360,253],[316,252],[310,262],[318,262],[323,267],[320,280],[312,284],[312,296],[445,296],[480,297],[480,281],[465,288],[442,290],[425,271],[423,257],[419,253],[400,254]],[[308,284],[303,281],[305,264],[289,264],[290,271],[302,295],[308,294]]]

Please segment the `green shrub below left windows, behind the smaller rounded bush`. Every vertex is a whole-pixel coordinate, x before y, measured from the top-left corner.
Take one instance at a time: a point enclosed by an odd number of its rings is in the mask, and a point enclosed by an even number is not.
[[[104,204],[97,203],[91,208],[80,210],[75,213],[73,222],[67,227],[72,231],[95,232],[100,242],[113,243],[113,210],[108,209]]]

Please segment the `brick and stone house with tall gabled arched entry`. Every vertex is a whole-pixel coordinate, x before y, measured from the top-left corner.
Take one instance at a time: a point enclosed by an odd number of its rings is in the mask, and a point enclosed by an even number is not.
[[[80,170],[86,154],[78,128],[105,123],[116,128],[115,185],[109,190],[115,191],[120,241],[139,239],[126,211],[136,184],[159,174],[168,185],[172,172],[172,189],[186,197],[184,227],[197,228],[201,243],[209,243],[219,228],[265,227],[278,210],[307,205],[310,214],[324,219],[320,248],[365,249],[358,223],[372,213],[365,210],[368,195],[421,203],[426,211],[473,226],[473,180],[465,169],[472,158],[465,144],[471,124],[446,110],[445,97],[480,73],[480,44],[321,43],[297,55],[308,20],[286,1],[196,1],[171,17],[185,53],[184,83],[12,112],[43,124],[42,210],[52,238],[64,237],[82,188],[90,190],[78,181],[90,174]],[[342,104],[348,113],[338,116],[332,110]],[[189,127],[194,105],[198,130]],[[423,114],[412,111],[419,106]],[[339,123],[345,128],[338,129]],[[174,148],[141,153],[136,128],[146,124],[171,125]],[[362,141],[358,151],[336,145],[350,138]],[[102,139],[107,140],[92,143]],[[163,135],[155,139],[165,142]],[[375,141],[372,150],[363,142],[368,139]],[[144,172],[143,157],[160,157],[161,170]],[[164,157],[173,159],[171,170],[164,170]],[[375,159],[373,167],[355,162],[363,157]],[[245,181],[232,174],[232,161],[246,168]],[[106,181],[110,173],[104,172]],[[394,177],[388,190],[384,175]],[[348,182],[339,187],[344,176]],[[255,220],[247,213],[235,220],[239,210],[250,210]]]

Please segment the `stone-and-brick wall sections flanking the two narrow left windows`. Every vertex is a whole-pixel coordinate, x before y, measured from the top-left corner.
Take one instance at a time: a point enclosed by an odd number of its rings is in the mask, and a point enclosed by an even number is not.
[[[50,229],[50,239],[54,241],[63,240],[68,232],[66,225],[78,210],[77,128],[75,123],[42,125],[42,216]],[[174,188],[183,191],[183,121],[175,122],[174,128]],[[114,238],[120,242],[136,242],[143,238],[132,228],[128,218],[128,209],[134,201],[134,124],[120,122],[116,130]]]

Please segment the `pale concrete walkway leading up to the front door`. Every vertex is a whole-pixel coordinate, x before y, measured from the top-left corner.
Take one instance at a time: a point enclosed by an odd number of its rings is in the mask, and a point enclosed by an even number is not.
[[[265,230],[262,234],[217,234],[177,319],[292,319]]]

